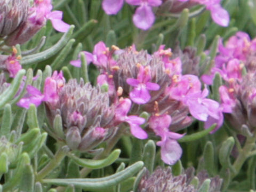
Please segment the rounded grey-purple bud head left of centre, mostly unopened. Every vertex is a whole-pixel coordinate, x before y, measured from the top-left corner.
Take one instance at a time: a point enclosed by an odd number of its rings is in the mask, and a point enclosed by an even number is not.
[[[62,84],[55,94],[58,94],[58,102],[54,102],[54,106],[45,102],[47,117],[53,126],[54,117],[61,116],[70,149],[89,151],[114,135],[114,105],[110,105],[108,93],[101,92],[100,86],[92,87],[82,80],[78,84],[73,79]],[[55,134],[53,137],[59,139]]]

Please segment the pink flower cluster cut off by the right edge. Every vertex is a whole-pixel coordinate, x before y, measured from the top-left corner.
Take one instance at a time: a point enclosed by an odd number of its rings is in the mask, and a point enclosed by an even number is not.
[[[219,87],[221,108],[237,131],[243,125],[255,127],[255,61],[256,40],[239,31],[229,38],[225,46],[219,42],[219,54],[209,75],[202,79],[212,84],[213,76],[219,73],[224,84]]]

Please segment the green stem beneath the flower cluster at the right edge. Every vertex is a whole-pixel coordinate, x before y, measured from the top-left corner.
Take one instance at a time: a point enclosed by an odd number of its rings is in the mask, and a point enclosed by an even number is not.
[[[237,173],[239,173],[239,171],[241,170],[244,162],[249,157],[252,149],[254,148],[255,141],[256,141],[255,135],[254,137],[247,137],[243,149],[239,151],[239,155],[233,164],[233,168],[235,172],[231,173],[231,178],[234,178],[237,175]]]

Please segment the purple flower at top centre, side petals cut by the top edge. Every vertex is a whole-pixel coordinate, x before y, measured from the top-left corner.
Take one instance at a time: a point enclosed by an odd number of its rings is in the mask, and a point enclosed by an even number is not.
[[[155,21],[155,15],[151,7],[162,4],[161,0],[126,0],[131,5],[139,5],[133,15],[133,23],[136,27],[148,30]]]

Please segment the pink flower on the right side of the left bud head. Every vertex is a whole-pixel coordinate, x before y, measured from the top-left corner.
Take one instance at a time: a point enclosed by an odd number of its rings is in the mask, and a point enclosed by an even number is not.
[[[135,138],[147,139],[148,134],[140,127],[141,124],[145,123],[145,119],[135,115],[127,116],[131,105],[132,102],[130,99],[126,98],[119,100],[115,110],[115,119],[118,122],[128,123],[130,125],[131,133]]]

